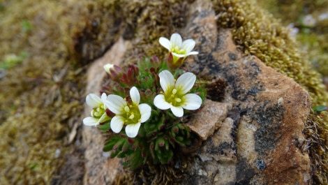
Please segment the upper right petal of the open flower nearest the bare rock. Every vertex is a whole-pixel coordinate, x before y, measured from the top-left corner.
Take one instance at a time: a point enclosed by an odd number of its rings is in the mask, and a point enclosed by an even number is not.
[[[179,92],[181,94],[186,94],[188,91],[190,91],[191,88],[193,88],[193,84],[195,84],[196,81],[196,75],[193,73],[187,72],[182,74],[177,82],[175,83],[175,87],[177,90],[179,89]]]

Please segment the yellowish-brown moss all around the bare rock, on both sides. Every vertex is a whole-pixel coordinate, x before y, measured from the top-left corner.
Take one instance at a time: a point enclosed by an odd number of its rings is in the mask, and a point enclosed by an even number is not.
[[[292,6],[270,2],[272,6],[266,3],[265,7],[283,24],[308,13],[327,12],[328,7],[320,0],[293,1]],[[0,79],[0,184],[81,184],[79,128],[87,64],[119,35],[138,38],[132,43],[134,49],[124,55],[128,63],[141,57],[135,53],[163,55],[157,39],[186,25],[188,3],[192,1],[0,1],[0,60],[8,54],[27,54],[19,64],[0,71],[6,73]],[[313,106],[327,105],[320,76],[328,73],[327,20],[297,36],[306,46],[301,47],[256,1],[214,1],[214,9],[220,15],[218,23],[233,30],[235,42],[246,54],[255,54],[267,66],[295,79],[309,91]],[[320,141],[310,151],[319,154],[313,158],[313,165],[322,167],[315,174],[318,183],[328,173],[327,123],[327,114],[313,113],[307,128],[315,132],[305,131],[310,142]],[[75,140],[68,142],[75,130]],[[81,169],[61,172],[71,163]]]

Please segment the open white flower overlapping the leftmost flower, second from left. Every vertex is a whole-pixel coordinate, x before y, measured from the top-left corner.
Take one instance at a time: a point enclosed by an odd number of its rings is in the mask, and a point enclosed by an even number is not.
[[[140,103],[140,94],[136,87],[130,89],[132,103],[126,102],[121,96],[110,94],[107,96],[106,105],[114,114],[110,121],[110,128],[114,133],[121,132],[126,124],[126,135],[135,138],[141,123],[147,121],[151,114],[151,107],[146,103]]]

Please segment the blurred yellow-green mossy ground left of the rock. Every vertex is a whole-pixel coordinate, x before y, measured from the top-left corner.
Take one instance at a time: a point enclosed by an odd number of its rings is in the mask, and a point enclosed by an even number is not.
[[[74,45],[94,18],[86,8],[90,3],[1,3],[1,184],[50,184],[70,155],[68,133],[82,122],[85,87]],[[28,55],[20,57],[22,51]],[[14,61],[8,60],[12,53]]]

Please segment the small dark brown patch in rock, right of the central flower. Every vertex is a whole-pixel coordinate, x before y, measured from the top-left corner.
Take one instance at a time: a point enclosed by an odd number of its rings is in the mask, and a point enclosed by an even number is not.
[[[225,80],[217,79],[207,86],[207,96],[212,101],[222,101],[225,96]]]

